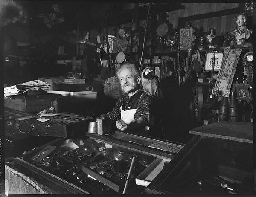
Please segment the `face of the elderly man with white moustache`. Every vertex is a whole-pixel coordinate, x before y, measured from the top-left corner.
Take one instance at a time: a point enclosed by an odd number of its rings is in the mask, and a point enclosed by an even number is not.
[[[126,93],[129,93],[138,89],[140,84],[140,77],[135,78],[133,72],[131,72],[130,69],[124,68],[119,73],[119,81],[122,90]]]

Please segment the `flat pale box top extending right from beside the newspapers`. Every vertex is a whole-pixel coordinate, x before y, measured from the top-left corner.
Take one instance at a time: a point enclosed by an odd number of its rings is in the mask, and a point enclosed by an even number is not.
[[[88,100],[96,100],[97,99],[97,93],[92,92],[92,91],[68,92],[68,91],[47,90],[47,93],[61,94],[62,96],[74,96],[77,98],[84,98],[84,99],[88,99]]]

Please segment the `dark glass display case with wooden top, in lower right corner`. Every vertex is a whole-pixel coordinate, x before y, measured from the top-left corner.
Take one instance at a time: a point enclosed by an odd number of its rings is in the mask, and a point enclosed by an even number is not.
[[[253,194],[253,124],[215,122],[189,133],[196,135],[145,193]]]

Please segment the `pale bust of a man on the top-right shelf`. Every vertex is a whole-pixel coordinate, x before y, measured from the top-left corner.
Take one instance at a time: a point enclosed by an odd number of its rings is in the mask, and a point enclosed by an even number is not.
[[[240,13],[237,15],[237,28],[231,32],[231,34],[233,34],[236,38],[237,45],[244,45],[245,40],[247,40],[253,32],[251,29],[247,29],[246,21],[247,16],[244,13]]]

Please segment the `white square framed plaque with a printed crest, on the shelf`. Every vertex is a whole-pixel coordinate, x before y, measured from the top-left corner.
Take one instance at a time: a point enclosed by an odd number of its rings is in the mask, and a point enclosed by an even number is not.
[[[204,70],[205,71],[219,71],[221,67],[221,61],[223,58],[223,53],[214,51],[206,52],[204,58]]]

